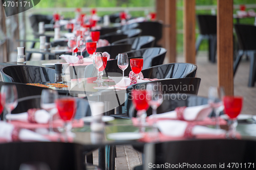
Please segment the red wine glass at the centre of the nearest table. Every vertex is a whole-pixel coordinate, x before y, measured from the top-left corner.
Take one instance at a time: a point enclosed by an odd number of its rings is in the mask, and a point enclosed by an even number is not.
[[[135,109],[138,111],[137,116],[141,126],[145,125],[146,110],[150,107],[148,105],[148,98],[146,95],[146,90],[137,90],[132,91],[132,101]]]

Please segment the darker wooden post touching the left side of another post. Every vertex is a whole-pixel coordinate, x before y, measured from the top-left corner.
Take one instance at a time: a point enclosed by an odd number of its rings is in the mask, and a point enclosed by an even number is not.
[[[159,45],[165,47],[165,0],[156,0],[156,12],[157,12],[157,20],[161,20],[163,23],[163,36],[162,39],[159,40]]]

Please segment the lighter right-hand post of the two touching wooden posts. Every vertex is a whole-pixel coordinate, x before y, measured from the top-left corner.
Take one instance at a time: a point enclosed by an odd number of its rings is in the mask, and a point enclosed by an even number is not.
[[[176,62],[176,0],[165,0],[165,48],[166,62]],[[168,57],[168,58],[167,58]]]

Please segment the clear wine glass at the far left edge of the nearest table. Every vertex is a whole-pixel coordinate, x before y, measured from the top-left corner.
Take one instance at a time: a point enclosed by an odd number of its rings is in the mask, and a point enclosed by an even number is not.
[[[5,98],[5,109],[7,110],[7,115],[11,114],[11,111],[14,110],[18,105],[18,93],[15,85],[3,85],[1,88],[1,96]],[[6,120],[5,115],[3,116]],[[11,122],[11,119],[9,119]]]

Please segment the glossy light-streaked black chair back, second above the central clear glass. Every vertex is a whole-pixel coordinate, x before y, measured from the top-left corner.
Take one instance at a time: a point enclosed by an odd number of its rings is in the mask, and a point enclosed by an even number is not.
[[[153,36],[140,36],[133,38],[126,38],[119,41],[115,41],[112,44],[131,44],[132,50],[139,50],[141,48],[153,47],[155,42],[155,37]]]

